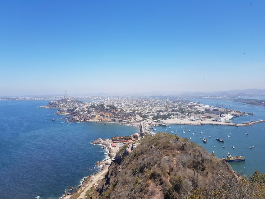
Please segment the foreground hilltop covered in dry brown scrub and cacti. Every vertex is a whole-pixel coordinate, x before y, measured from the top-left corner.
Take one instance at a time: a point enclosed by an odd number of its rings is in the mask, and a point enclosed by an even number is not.
[[[263,174],[246,180],[194,142],[157,133],[112,163],[93,198],[264,198],[264,183]]]

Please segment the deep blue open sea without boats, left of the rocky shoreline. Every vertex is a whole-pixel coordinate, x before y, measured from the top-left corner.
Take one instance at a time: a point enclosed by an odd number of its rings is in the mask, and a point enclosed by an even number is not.
[[[65,123],[56,109],[38,108],[47,103],[0,101],[1,199],[59,198],[106,158],[91,141],[139,132],[115,123]]]

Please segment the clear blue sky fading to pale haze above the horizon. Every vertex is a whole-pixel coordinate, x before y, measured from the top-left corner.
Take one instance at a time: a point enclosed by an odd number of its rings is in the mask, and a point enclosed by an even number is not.
[[[2,0],[0,96],[264,89],[264,7]]]

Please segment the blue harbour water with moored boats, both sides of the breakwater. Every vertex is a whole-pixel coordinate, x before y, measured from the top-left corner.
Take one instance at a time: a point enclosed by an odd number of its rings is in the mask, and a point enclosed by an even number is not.
[[[258,109],[260,106],[249,106],[243,103],[226,101],[226,100],[212,100],[212,99],[189,99],[192,101],[199,101],[201,104],[207,104],[215,106],[217,103],[222,104],[224,108],[237,109],[249,113],[255,113],[255,115],[241,116],[238,118],[232,118],[233,123],[242,123],[251,120],[262,120],[265,119],[265,107]],[[182,126],[182,128],[180,128]],[[169,127],[171,127],[169,129]],[[186,137],[193,142],[203,146],[210,153],[214,151],[215,155],[223,158],[226,157],[229,151],[232,156],[244,155],[246,160],[244,162],[230,163],[232,168],[237,172],[243,172],[243,174],[253,174],[255,169],[259,172],[265,173],[265,123],[258,123],[252,126],[246,127],[235,127],[235,126],[224,126],[224,125],[169,125],[167,127],[155,127],[155,132],[164,132],[167,129],[168,133],[177,130],[177,135]],[[186,130],[186,128],[188,130]],[[185,134],[182,132],[185,131]],[[190,132],[189,132],[190,130]],[[195,133],[195,131],[197,131]],[[202,132],[202,134],[200,134]],[[246,135],[246,132],[249,135]],[[192,135],[194,133],[194,135]],[[229,134],[231,133],[231,134]],[[172,133],[171,133],[172,134]],[[228,138],[227,136],[231,137]],[[211,136],[211,138],[209,138]],[[200,139],[201,137],[201,139]],[[207,143],[202,142],[202,138],[207,139]],[[216,140],[217,137],[221,137],[225,142],[219,142]],[[214,147],[215,146],[215,147]],[[225,146],[225,148],[223,148]],[[235,146],[232,149],[230,146]],[[253,149],[249,147],[255,146]]]

